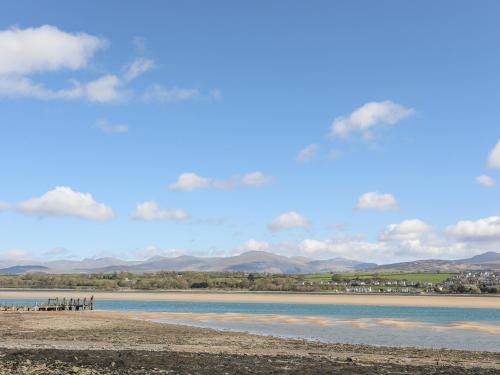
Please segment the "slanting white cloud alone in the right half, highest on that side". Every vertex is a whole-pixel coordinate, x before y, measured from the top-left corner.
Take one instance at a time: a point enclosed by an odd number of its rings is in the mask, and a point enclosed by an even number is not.
[[[414,113],[414,109],[390,100],[366,103],[347,117],[337,117],[332,123],[331,134],[346,137],[351,133],[360,132],[364,138],[371,138],[375,128],[394,125]]]

